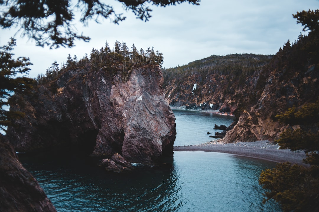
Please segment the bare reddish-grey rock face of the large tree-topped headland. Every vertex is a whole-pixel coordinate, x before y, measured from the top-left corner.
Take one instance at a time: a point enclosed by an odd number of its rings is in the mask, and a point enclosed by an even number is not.
[[[26,113],[7,137],[18,152],[46,150],[154,163],[173,153],[175,118],[157,65],[69,70],[30,95],[14,96]]]

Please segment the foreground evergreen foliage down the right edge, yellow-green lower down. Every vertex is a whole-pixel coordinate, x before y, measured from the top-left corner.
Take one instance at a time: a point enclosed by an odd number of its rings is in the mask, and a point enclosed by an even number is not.
[[[298,42],[303,44],[308,63],[314,64],[315,70],[318,70],[319,10],[303,10],[293,17],[304,26],[303,31],[310,31]],[[313,99],[316,101],[299,109],[293,106],[276,116],[280,123],[288,126],[277,142],[281,148],[307,152],[303,162],[310,164],[310,167],[278,163],[276,168],[263,170],[259,178],[259,184],[267,189],[264,203],[274,199],[285,212],[319,211],[319,97]]]

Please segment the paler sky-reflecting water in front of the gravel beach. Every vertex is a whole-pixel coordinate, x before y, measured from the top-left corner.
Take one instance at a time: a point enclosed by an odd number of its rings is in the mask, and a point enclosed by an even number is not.
[[[281,211],[275,202],[263,205],[258,184],[261,170],[273,162],[213,152],[175,152],[182,193],[180,211]]]

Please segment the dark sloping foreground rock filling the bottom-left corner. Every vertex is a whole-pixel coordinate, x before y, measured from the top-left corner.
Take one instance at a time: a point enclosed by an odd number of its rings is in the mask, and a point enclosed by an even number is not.
[[[0,211],[56,211],[39,183],[0,134]]]

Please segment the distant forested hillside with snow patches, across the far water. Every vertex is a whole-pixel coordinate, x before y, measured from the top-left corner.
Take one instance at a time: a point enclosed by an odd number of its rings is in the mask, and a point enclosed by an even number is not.
[[[170,106],[186,109],[219,110],[233,114],[238,99],[251,85],[256,84],[271,55],[231,54],[212,55],[188,65],[164,69],[164,91]],[[240,97],[240,98],[239,98]]]

